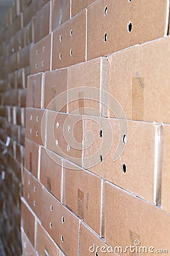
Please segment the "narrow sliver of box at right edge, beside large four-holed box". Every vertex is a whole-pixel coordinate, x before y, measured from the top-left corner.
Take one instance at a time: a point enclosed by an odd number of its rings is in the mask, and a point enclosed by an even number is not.
[[[170,126],[163,125],[162,128],[162,209],[170,212],[169,203],[169,138],[170,138]],[[160,148],[161,150],[161,148]],[[161,151],[159,151],[161,154]]]

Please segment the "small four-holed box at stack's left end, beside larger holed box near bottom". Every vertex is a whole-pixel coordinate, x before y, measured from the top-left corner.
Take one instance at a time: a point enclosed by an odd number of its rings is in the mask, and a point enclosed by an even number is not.
[[[28,171],[24,171],[24,199],[41,220],[42,185]]]

